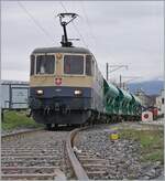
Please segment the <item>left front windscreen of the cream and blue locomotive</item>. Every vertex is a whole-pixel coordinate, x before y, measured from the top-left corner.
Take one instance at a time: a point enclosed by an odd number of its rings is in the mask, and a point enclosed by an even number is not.
[[[36,74],[54,74],[55,57],[54,55],[37,55]]]

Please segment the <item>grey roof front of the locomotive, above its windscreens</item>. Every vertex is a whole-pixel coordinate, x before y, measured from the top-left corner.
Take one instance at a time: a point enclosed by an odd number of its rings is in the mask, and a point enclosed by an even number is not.
[[[33,53],[79,53],[79,54],[91,54],[88,49],[85,47],[38,47]]]

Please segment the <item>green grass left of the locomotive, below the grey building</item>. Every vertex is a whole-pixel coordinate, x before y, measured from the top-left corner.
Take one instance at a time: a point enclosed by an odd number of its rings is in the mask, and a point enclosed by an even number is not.
[[[2,130],[13,130],[20,128],[37,128],[42,125],[36,124],[32,118],[26,117],[25,111],[4,111],[4,119],[1,123]]]

